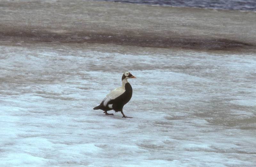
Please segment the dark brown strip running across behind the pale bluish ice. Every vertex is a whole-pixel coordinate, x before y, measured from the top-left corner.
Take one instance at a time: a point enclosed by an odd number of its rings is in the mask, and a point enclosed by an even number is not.
[[[24,28],[23,28],[24,29]],[[255,45],[236,40],[221,38],[196,38],[196,37],[161,37],[153,34],[133,35],[133,32],[97,33],[97,32],[72,32],[55,33],[50,31],[5,31],[0,30],[0,40],[35,41],[35,42],[63,42],[63,43],[101,43],[117,44],[139,47],[156,48],[183,48],[200,50],[236,50],[255,49]]]

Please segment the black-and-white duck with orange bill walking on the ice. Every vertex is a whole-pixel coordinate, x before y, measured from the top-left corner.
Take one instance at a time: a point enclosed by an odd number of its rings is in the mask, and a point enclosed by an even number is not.
[[[93,110],[103,110],[105,115],[114,115],[109,114],[109,110],[114,110],[116,112],[121,112],[122,118],[132,118],[124,115],[123,107],[128,103],[132,98],[132,86],[128,82],[128,79],[136,78],[130,72],[124,72],[122,76],[122,87],[117,87],[112,90],[106,97],[102,100],[100,105],[94,107]]]

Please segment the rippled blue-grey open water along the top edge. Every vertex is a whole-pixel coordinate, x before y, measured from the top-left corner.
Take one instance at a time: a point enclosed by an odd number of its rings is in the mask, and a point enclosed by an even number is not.
[[[256,11],[254,0],[105,0],[131,4],[207,8],[217,10]]]

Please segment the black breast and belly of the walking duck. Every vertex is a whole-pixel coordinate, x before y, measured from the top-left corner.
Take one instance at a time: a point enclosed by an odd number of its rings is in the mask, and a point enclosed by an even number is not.
[[[117,111],[123,111],[124,105],[129,102],[132,98],[132,86],[127,82],[124,86],[125,91],[122,95],[118,96],[116,99],[113,99],[109,104],[113,103],[113,109]]]

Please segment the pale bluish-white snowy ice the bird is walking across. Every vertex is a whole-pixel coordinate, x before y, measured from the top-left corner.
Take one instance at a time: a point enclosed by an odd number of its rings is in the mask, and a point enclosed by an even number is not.
[[[44,42],[0,50],[0,166],[256,164],[256,54]],[[125,71],[137,77],[124,106],[133,118],[93,110]]]

